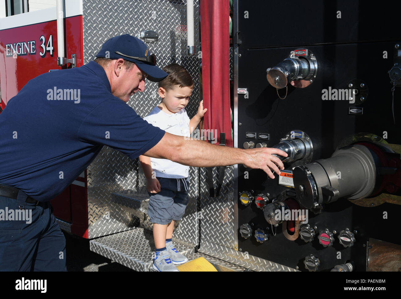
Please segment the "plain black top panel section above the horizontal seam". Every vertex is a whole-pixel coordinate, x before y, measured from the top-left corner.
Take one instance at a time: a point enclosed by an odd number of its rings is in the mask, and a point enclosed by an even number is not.
[[[399,37],[393,1],[238,0],[238,24],[247,48],[391,41]]]

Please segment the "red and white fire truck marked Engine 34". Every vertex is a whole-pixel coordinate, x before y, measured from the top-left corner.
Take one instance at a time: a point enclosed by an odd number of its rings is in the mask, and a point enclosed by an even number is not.
[[[30,79],[80,67],[128,33],[159,67],[175,62],[191,74],[188,116],[200,100],[208,108],[192,137],[288,153],[275,179],[244,165],[190,167],[190,201],[173,234],[189,260],[215,271],[401,268],[401,39],[392,2],[0,6],[0,111]],[[146,116],[156,90],[147,82],[128,105]],[[89,239],[92,251],[151,271],[148,201],[138,160],[104,146],[51,203],[61,229]]]

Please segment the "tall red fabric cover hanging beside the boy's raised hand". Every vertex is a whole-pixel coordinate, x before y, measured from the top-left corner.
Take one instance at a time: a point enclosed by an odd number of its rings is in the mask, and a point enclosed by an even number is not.
[[[201,43],[205,129],[225,133],[233,146],[230,114],[229,1],[201,0]],[[215,136],[213,136],[215,138]]]

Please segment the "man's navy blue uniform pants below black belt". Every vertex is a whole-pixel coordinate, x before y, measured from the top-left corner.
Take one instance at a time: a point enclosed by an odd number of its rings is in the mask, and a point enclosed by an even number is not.
[[[65,237],[49,202],[0,196],[0,271],[67,271]]]

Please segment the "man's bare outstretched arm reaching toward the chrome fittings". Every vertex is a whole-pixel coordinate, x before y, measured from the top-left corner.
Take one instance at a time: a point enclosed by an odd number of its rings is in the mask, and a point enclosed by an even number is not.
[[[246,167],[263,169],[274,178],[270,169],[279,174],[284,165],[272,154],[287,157],[287,153],[277,148],[231,148],[216,146],[201,140],[185,140],[185,137],[165,133],[163,138],[143,155],[195,167],[213,167],[244,164]]]

